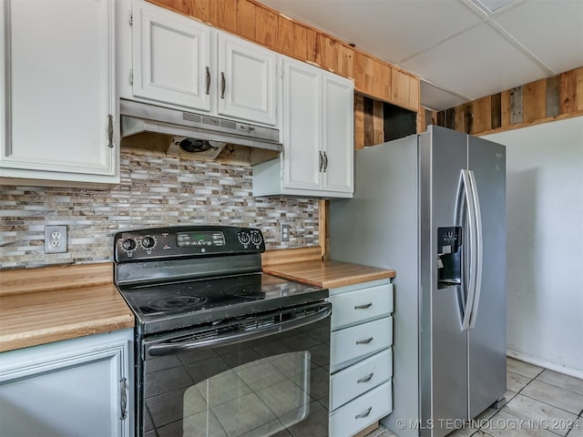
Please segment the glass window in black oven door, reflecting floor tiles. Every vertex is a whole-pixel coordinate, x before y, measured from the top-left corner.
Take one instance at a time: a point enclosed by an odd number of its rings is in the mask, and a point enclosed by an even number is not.
[[[184,393],[185,435],[272,435],[310,414],[310,352],[288,352],[223,371]]]

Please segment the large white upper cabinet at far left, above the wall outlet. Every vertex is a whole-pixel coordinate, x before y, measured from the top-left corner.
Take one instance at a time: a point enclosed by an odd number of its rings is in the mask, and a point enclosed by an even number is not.
[[[0,5],[0,177],[118,183],[114,0]]]

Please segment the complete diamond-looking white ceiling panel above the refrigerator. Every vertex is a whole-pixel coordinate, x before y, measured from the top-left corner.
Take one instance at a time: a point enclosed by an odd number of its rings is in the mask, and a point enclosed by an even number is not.
[[[484,44],[487,41],[487,44]],[[405,69],[473,100],[547,73],[488,24],[455,36],[403,63]],[[479,89],[476,88],[479,82]]]

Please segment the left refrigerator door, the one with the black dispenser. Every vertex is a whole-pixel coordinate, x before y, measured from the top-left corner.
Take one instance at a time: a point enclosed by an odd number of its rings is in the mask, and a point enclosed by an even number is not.
[[[457,212],[467,140],[464,134],[445,128],[430,127],[429,132],[420,139],[421,409],[422,423],[433,428],[422,433],[440,437],[453,431],[452,420],[467,419],[465,284],[438,286],[437,280],[438,253],[444,250],[437,244],[440,229],[461,227],[465,232]],[[426,422],[430,419],[433,426]]]

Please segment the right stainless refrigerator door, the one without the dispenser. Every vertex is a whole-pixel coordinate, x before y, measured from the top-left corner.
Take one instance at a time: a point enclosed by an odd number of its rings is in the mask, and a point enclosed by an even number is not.
[[[469,416],[506,391],[506,147],[468,137],[482,216],[482,280],[469,335]]]

